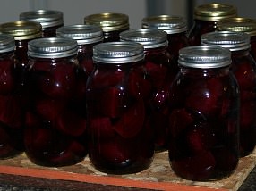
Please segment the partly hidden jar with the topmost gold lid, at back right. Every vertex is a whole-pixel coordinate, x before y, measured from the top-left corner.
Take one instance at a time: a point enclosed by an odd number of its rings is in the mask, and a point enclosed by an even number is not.
[[[232,18],[237,15],[237,10],[231,4],[201,4],[194,9],[194,23],[188,37],[191,46],[201,45],[201,35],[217,29],[217,22]]]

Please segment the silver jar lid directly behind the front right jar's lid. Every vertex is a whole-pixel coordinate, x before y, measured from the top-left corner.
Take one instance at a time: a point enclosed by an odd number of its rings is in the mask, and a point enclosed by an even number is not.
[[[201,36],[201,45],[221,46],[230,51],[249,49],[250,36],[243,32],[215,31]]]

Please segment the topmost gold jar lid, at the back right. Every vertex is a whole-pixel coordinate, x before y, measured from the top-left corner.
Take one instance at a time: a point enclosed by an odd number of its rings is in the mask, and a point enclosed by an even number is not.
[[[201,4],[194,9],[194,19],[201,21],[219,21],[237,15],[237,9],[231,4]]]

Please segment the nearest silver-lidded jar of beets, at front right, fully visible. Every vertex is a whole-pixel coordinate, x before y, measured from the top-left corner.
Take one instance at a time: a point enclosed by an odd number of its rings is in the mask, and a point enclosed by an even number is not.
[[[183,179],[224,179],[239,159],[239,87],[230,51],[180,50],[180,72],[169,94],[169,160]]]

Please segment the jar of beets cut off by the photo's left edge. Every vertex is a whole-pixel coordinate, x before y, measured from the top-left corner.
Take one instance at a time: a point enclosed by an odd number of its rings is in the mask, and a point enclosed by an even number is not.
[[[14,37],[0,34],[0,159],[23,151],[21,92],[14,61]]]

